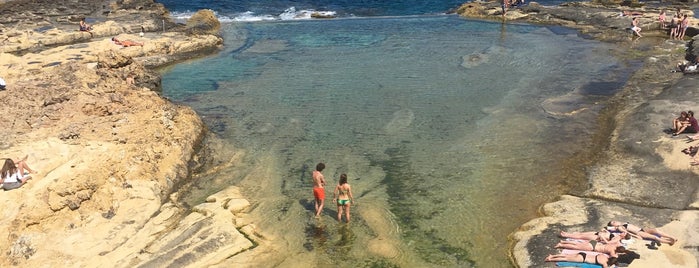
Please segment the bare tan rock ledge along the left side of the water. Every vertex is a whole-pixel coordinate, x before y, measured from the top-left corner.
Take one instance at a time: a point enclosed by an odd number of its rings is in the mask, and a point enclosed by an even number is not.
[[[265,241],[236,187],[180,200],[239,158],[205,149],[220,141],[151,69],[220,49],[200,12],[195,32],[152,0],[0,1],[0,155],[38,171],[0,191],[0,267],[212,267]]]

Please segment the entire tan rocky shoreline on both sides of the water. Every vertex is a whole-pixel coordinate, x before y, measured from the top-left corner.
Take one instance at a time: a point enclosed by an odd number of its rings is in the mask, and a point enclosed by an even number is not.
[[[511,235],[516,266],[552,266],[543,260],[555,252],[560,230],[596,230],[611,219],[680,237],[658,250],[635,244],[640,259],[629,267],[698,266],[699,171],[681,153],[689,144],[662,133],[672,114],[697,110],[699,94],[694,76],[669,73],[699,51],[690,46],[687,53],[689,40],[668,40],[655,24],[660,9],[676,7],[693,10],[686,3],[530,3],[508,11],[508,23],[575,28],[642,64],[600,116],[596,141],[604,150],[586,169],[589,187],[544,205],[540,218]],[[644,12],[643,38],[625,30],[622,9]],[[457,11],[500,21],[498,12],[497,2]],[[0,1],[0,13],[0,77],[8,83],[0,91],[0,153],[28,154],[39,170],[22,188],[0,194],[7,234],[0,266],[253,267],[250,260],[275,254],[273,239],[245,217],[249,203],[238,188],[193,207],[178,193],[196,184],[198,171],[241,161],[235,150],[211,150],[229,145],[209,135],[190,108],[164,100],[152,71],[219,49],[212,14],[180,25],[152,0]],[[92,37],[77,31],[82,17],[93,24]],[[692,27],[688,35],[695,33]],[[112,36],[144,46],[119,47]]]

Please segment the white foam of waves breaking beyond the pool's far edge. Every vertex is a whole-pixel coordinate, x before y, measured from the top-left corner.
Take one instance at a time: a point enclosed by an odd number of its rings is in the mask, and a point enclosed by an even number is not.
[[[194,11],[171,12],[170,17],[175,21],[183,22],[194,15]],[[337,16],[335,11],[319,11],[313,9],[296,10],[295,7],[290,7],[284,10],[281,14],[255,14],[252,11],[246,11],[236,14],[223,15],[214,11],[214,15],[220,22],[255,22],[255,21],[273,21],[273,20],[309,20],[317,18],[334,18]]]

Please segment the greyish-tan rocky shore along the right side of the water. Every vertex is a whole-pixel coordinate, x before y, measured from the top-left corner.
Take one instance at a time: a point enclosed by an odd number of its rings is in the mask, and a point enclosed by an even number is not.
[[[685,40],[671,40],[658,24],[660,10],[674,14],[677,8],[692,18]],[[582,2],[559,7],[530,3],[502,16],[496,2],[471,2],[459,8],[457,13],[469,18],[578,29],[618,45],[623,49],[619,57],[642,64],[600,115],[602,131],[595,140],[603,144],[603,150],[593,152],[596,161],[585,167],[588,186],[575,196],[561,196],[545,204],[540,218],[511,235],[515,265],[552,267],[544,259],[558,251],[554,246],[561,239],[560,231],[596,231],[610,220],[620,220],[659,227],[679,237],[675,245],[658,249],[636,241],[629,249],[638,256],[622,261],[628,267],[698,266],[699,171],[681,152],[691,144],[663,133],[673,115],[697,109],[692,101],[699,94],[697,77],[670,73],[677,62],[699,55],[694,45],[699,37],[693,9],[687,3],[673,2],[633,6]],[[621,16],[623,10],[642,13],[638,18],[644,37],[634,37],[627,29],[631,18]]]

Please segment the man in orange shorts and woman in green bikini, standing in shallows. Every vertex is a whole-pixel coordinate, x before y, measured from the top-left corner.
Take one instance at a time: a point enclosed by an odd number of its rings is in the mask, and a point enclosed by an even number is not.
[[[318,163],[311,177],[313,178],[313,197],[315,199],[315,216],[320,217],[325,205],[325,176],[323,176],[324,163]],[[350,206],[354,203],[352,196],[352,186],[347,183],[347,174],[341,174],[335,190],[333,191],[333,202],[337,204],[337,221],[342,221],[342,215],[345,215],[345,220],[350,221]]]

